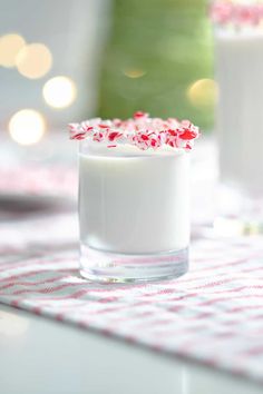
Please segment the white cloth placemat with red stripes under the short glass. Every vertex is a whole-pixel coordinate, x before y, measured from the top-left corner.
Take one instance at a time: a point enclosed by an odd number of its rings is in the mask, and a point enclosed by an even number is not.
[[[187,275],[96,285],[78,274],[77,218],[0,229],[0,302],[263,383],[263,237],[192,242]]]

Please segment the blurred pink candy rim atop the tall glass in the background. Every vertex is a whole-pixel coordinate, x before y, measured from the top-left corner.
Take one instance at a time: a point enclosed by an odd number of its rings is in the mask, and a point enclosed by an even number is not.
[[[214,0],[210,7],[210,17],[218,26],[232,24],[236,28],[259,26],[263,19],[263,4]]]

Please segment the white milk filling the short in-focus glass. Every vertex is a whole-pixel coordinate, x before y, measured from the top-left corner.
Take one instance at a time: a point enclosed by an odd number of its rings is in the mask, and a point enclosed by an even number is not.
[[[186,248],[188,165],[183,149],[149,152],[123,146],[80,152],[81,244],[118,254]]]

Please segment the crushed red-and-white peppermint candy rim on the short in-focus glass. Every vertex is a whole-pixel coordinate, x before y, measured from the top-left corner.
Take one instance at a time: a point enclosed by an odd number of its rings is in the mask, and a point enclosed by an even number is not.
[[[143,150],[163,146],[191,150],[194,139],[199,136],[198,127],[189,120],[150,118],[143,111],[135,112],[133,119],[94,118],[80,124],[69,124],[68,127],[70,139],[89,138],[105,144],[108,148],[129,144]]]

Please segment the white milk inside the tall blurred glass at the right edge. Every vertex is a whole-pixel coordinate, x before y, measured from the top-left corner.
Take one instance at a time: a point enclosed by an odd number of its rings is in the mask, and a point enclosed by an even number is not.
[[[247,194],[262,194],[263,32],[217,31],[215,72],[221,179]]]

